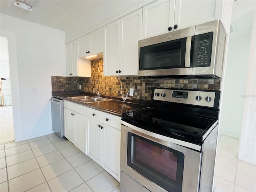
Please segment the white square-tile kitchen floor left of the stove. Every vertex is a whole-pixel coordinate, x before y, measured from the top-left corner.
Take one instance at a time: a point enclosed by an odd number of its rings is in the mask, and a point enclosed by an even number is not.
[[[0,145],[1,192],[119,192],[119,182],[57,134]]]

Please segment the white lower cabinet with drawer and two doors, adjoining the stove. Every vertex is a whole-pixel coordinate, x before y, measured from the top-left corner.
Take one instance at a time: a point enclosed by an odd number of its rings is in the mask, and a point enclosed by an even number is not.
[[[87,155],[120,181],[120,117],[87,108]]]

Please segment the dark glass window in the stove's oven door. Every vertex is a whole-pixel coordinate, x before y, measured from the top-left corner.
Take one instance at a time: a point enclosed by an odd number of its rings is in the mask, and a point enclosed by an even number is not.
[[[182,191],[182,152],[128,132],[127,164],[167,191]]]

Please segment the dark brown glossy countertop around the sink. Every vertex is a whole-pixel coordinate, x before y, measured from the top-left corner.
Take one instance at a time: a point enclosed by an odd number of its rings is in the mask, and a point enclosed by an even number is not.
[[[95,94],[88,93],[88,94],[81,94],[81,93],[68,93],[68,94],[57,94],[54,95],[54,97],[68,100],[71,102],[74,102],[76,104],[84,105],[86,107],[94,108],[103,112],[107,112],[110,114],[114,114],[117,116],[121,116],[124,113],[127,112],[132,112],[144,108],[149,108],[150,102],[148,104],[146,102],[143,102],[143,104],[138,104],[138,103],[132,103],[132,102],[124,102],[121,100],[118,100],[119,98],[113,99],[111,97],[110,99],[112,100],[106,100],[106,101],[101,101],[101,102],[92,102],[92,103],[84,103],[78,100],[70,99],[68,97],[74,97],[74,96],[85,96],[85,95],[93,95]],[[104,97],[104,96],[103,96]],[[104,97],[105,98],[105,97]],[[129,100],[130,101],[130,100]],[[146,104],[145,104],[146,103]]]

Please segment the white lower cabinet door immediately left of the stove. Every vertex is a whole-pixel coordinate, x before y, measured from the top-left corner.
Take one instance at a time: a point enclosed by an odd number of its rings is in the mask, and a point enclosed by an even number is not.
[[[103,124],[102,166],[118,181],[120,180],[120,136],[121,131]]]

